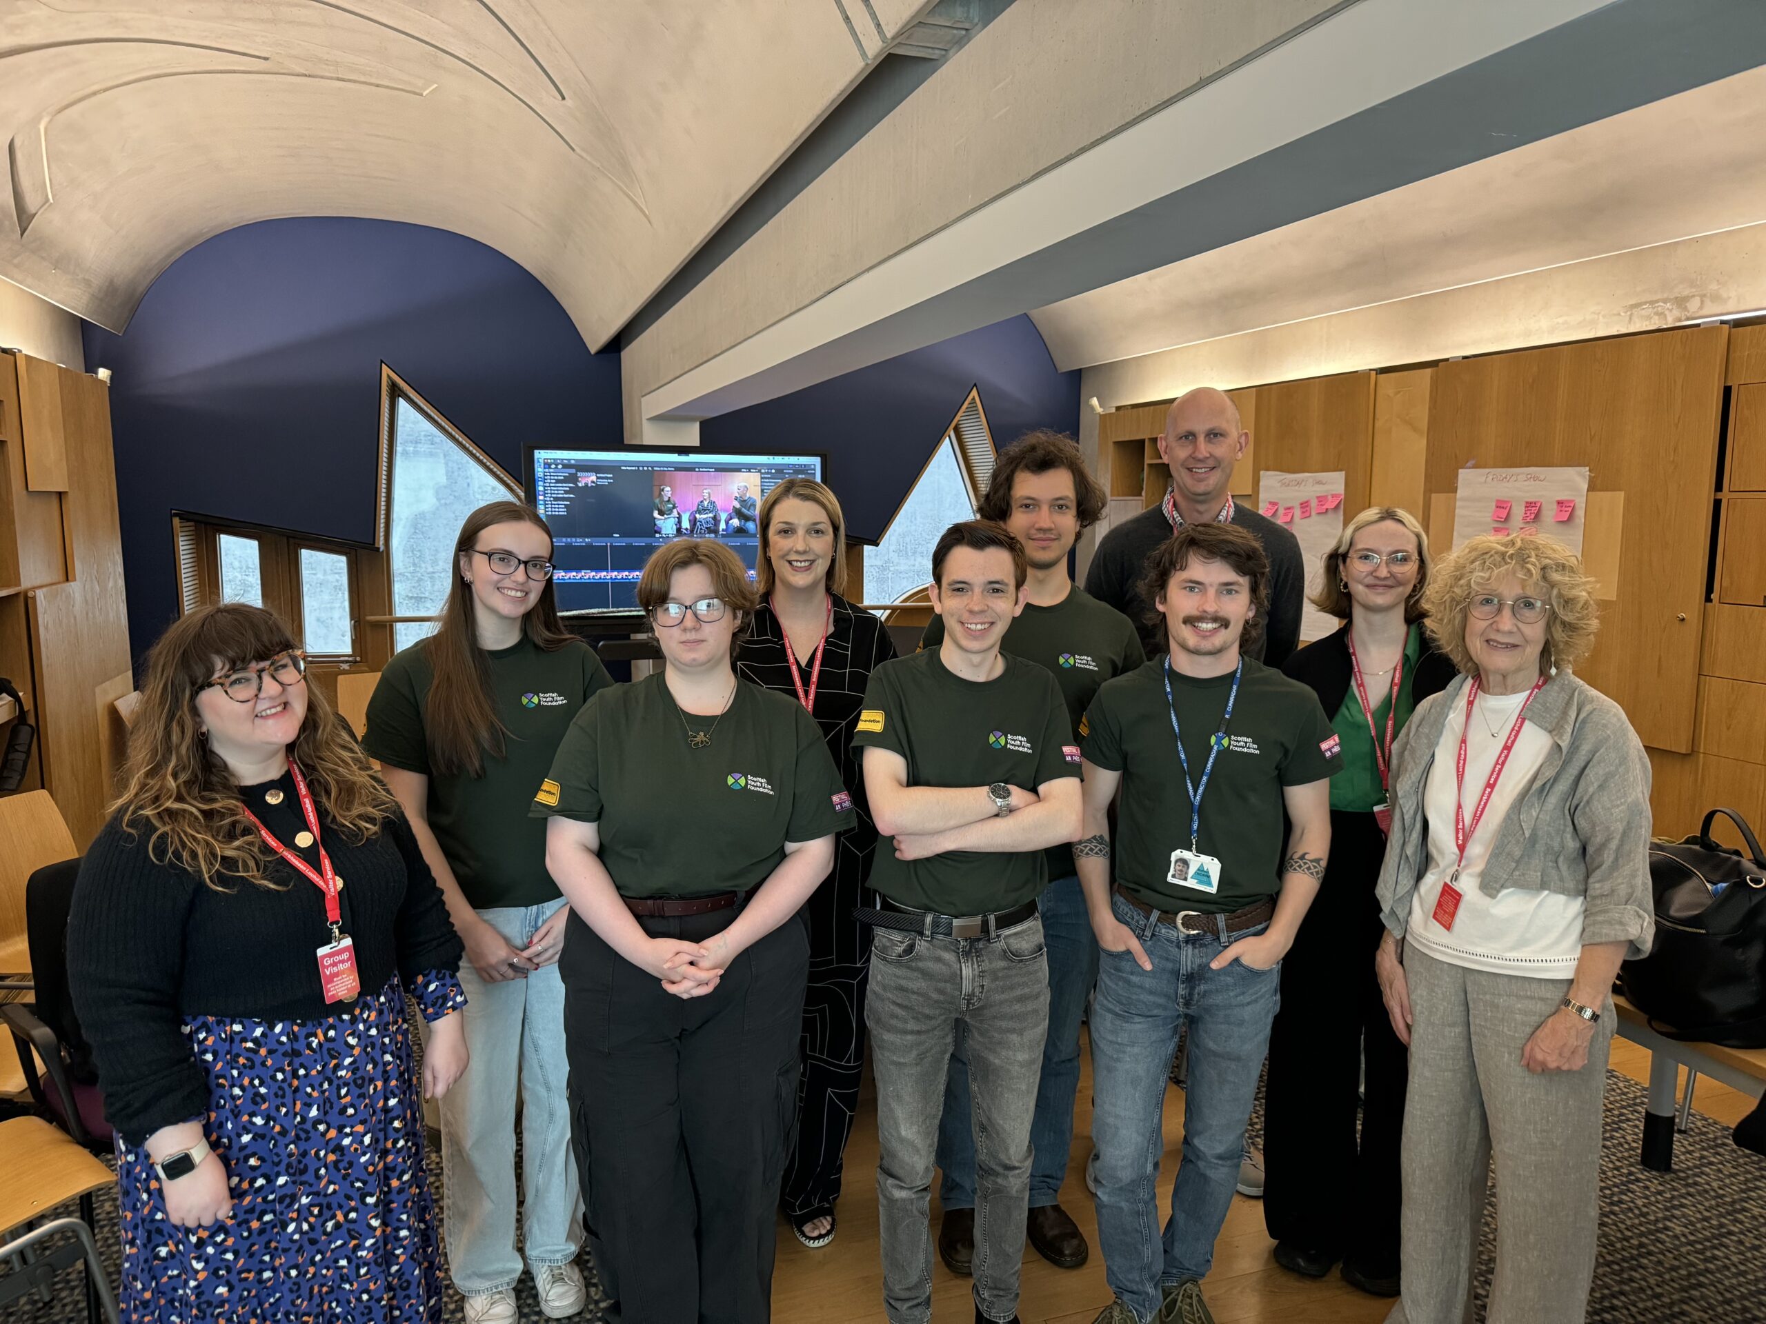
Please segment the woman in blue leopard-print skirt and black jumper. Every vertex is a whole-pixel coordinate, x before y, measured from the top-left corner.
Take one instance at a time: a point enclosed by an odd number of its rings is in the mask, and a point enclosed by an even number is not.
[[[67,976],[117,1132],[131,1320],[442,1319],[422,1089],[461,944],[397,801],[245,604],[161,636]]]

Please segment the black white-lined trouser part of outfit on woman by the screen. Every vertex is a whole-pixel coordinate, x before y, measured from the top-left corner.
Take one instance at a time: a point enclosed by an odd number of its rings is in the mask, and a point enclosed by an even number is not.
[[[857,835],[857,833],[853,833]],[[809,895],[809,989],[804,996],[796,1147],[784,1169],[781,1204],[804,1215],[841,1199],[846,1140],[858,1112],[865,1064],[865,990],[871,987],[871,925],[853,911],[869,906],[864,886],[871,851],[835,842],[834,874]]]

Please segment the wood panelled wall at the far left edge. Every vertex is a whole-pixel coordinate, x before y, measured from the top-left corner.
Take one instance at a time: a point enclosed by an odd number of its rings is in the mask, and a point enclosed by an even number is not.
[[[21,789],[46,787],[85,849],[122,759],[111,703],[132,688],[109,388],[0,353],[0,676],[37,724]]]

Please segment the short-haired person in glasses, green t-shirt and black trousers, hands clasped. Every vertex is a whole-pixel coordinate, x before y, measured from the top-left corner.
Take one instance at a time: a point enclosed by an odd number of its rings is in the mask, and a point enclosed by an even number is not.
[[[638,606],[662,669],[597,694],[533,812],[570,902],[572,1140],[625,1324],[765,1324],[809,941],[796,918],[851,826],[821,729],[736,678],[754,588],[671,542]]]

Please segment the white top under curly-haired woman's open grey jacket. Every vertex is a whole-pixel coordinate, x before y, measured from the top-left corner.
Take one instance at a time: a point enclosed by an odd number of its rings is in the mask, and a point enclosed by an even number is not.
[[[1508,740],[1515,713],[1528,692],[1491,696],[1480,690],[1471,715],[1471,738],[1466,743],[1466,801],[1468,826],[1478,809],[1478,796],[1496,766],[1496,756]],[[1496,734],[1491,734],[1491,729]],[[1503,888],[1494,897],[1483,893],[1480,879],[1483,863],[1503,826],[1508,810],[1533,787],[1540,764],[1551,752],[1551,736],[1531,722],[1522,722],[1521,736],[1508,756],[1503,780],[1498,782],[1478,830],[1466,846],[1466,863],[1460,865],[1459,913],[1453,929],[1443,929],[1436,918],[1441,884],[1459,865],[1453,842],[1453,800],[1457,796],[1455,768],[1459,763],[1459,736],[1466,729],[1466,704],[1453,703],[1441,741],[1436,745],[1434,766],[1423,786],[1423,810],[1429,817],[1429,872],[1411,900],[1411,923],[1406,941],[1415,943],[1436,960],[1469,969],[1526,974],[1538,980],[1563,980],[1575,973],[1582,955],[1582,897],[1566,897],[1536,888]]]

